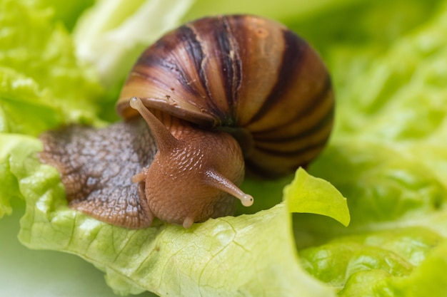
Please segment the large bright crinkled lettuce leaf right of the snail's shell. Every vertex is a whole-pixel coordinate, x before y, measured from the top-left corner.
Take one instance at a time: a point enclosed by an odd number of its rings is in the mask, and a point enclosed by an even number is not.
[[[446,203],[446,16],[444,6],[340,90],[333,142],[311,172],[351,198],[352,224],[423,215]]]

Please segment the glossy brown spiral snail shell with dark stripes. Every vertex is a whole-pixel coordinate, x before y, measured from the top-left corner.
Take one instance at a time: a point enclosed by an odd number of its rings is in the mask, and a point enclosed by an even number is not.
[[[293,172],[320,152],[333,123],[333,90],[318,54],[269,19],[216,16],[167,33],[142,53],[117,103],[129,98],[206,129],[236,135],[248,171]],[[242,135],[242,136],[241,136]]]

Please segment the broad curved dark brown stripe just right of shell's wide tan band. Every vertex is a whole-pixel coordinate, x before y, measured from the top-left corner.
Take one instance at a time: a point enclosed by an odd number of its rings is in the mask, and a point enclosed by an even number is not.
[[[273,86],[271,93],[264,100],[263,105],[259,108],[256,115],[251,118],[251,123],[263,118],[268,113],[273,105],[278,103],[278,100],[283,97],[284,93],[288,90],[291,84],[296,81],[296,75],[299,75],[297,70],[303,59],[303,53],[308,48],[306,41],[303,41],[295,33],[289,30],[283,31],[283,41],[285,48],[283,52],[283,58],[281,61],[281,68],[278,71],[278,77],[276,78],[276,84]]]

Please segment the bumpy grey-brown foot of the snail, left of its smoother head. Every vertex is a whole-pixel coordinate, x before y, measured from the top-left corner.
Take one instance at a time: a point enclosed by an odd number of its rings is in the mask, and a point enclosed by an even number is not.
[[[137,136],[138,135],[138,136]],[[56,167],[73,209],[111,224],[151,224],[131,177],[154,160],[156,142],[141,119],[104,129],[70,125],[40,137],[42,162]]]

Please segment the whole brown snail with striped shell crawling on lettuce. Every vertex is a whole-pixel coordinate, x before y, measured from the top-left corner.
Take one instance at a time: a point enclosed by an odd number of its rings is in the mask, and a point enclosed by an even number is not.
[[[191,21],[146,48],[119,95],[121,123],[44,133],[41,160],[61,172],[70,206],[143,228],[189,228],[253,197],[247,172],[290,174],[323,149],[331,78],[316,51],[260,16]],[[144,120],[141,120],[143,118]]]

